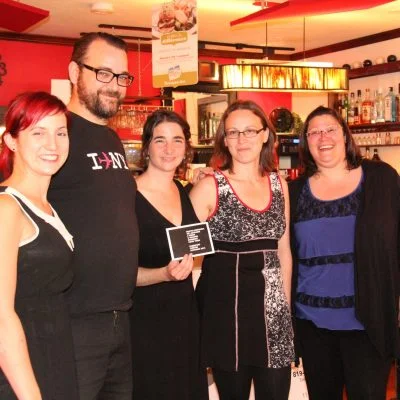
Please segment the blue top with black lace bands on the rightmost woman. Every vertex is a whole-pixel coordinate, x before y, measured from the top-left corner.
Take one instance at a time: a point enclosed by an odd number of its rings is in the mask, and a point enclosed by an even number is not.
[[[354,236],[362,179],[349,195],[329,201],[299,197],[294,234],[299,258],[296,315],[319,328],[363,330],[354,308]]]

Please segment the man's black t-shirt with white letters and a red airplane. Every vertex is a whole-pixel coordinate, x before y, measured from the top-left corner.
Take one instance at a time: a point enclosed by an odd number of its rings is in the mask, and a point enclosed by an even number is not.
[[[136,183],[112,129],[71,113],[69,135],[48,196],[75,242],[71,312],[127,310],[137,275]]]

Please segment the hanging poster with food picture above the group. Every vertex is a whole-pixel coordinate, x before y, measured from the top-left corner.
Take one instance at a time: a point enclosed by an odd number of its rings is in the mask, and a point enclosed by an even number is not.
[[[153,6],[153,87],[198,82],[197,0],[174,0]]]

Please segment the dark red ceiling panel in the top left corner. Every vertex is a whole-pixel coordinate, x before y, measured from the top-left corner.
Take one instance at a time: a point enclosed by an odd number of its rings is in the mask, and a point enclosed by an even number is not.
[[[49,11],[28,6],[14,0],[0,0],[0,26],[23,32],[49,16]]]

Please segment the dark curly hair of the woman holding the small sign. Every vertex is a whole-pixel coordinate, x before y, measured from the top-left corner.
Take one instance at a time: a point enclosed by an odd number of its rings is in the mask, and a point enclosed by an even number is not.
[[[183,131],[183,135],[185,136],[185,158],[182,161],[182,164],[178,167],[183,169],[183,172],[186,172],[188,164],[192,161],[193,158],[193,149],[190,144],[190,126],[187,121],[182,118],[175,111],[170,110],[157,110],[150,114],[146,122],[143,126],[143,134],[142,134],[142,149],[140,153],[140,166],[144,169],[147,168],[147,160],[146,157],[149,153],[150,142],[153,139],[154,129],[163,122],[174,122],[178,124]]]

